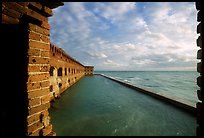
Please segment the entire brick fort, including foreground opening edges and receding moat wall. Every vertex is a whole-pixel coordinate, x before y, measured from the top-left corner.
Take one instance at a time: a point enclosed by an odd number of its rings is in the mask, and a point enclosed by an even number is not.
[[[198,10],[197,46],[197,132],[203,135],[202,7]],[[93,66],[84,66],[50,42],[52,9],[63,2],[2,2],[2,59],[4,92],[2,102],[3,136],[55,136],[48,109],[50,101],[79,81],[93,75]],[[3,53],[2,52],[2,53]],[[6,100],[5,100],[6,99]]]

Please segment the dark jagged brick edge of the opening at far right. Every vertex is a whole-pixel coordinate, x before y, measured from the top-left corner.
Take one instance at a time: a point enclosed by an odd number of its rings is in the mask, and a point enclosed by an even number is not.
[[[203,48],[202,48],[202,23],[203,23],[203,17],[202,17],[202,13],[203,13],[203,3],[196,2],[196,9],[198,10],[198,14],[197,14],[197,34],[199,34],[198,39],[197,39],[197,46],[200,48],[197,52],[197,59],[199,60],[199,62],[197,63],[197,72],[200,73],[200,76],[197,78],[197,85],[200,87],[199,90],[197,90],[197,96],[198,99],[200,100],[200,102],[197,103],[197,136],[203,136],[204,134],[204,120],[203,120],[203,71],[202,71],[202,64],[203,64]]]

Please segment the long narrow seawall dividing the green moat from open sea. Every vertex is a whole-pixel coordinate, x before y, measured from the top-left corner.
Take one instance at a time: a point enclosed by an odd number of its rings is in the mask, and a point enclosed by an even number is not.
[[[180,102],[180,101],[178,101],[178,100],[176,100],[176,99],[173,99],[173,98],[170,98],[170,97],[167,97],[167,96],[158,94],[158,93],[154,93],[154,92],[152,92],[152,91],[150,91],[150,90],[147,90],[147,89],[144,89],[144,88],[140,88],[140,87],[135,86],[135,85],[132,85],[132,84],[128,84],[128,83],[126,83],[126,82],[124,82],[124,81],[117,80],[117,79],[115,79],[115,78],[113,78],[113,77],[106,76],[106,75],[104,75],[104,74],[95,74],[95,75],[103,76],[103,77],[105,77],[105,78],[108,78],[108,79],[110,79],[110,80],[113,80],[113,81],[115,81],[115,82],[118,82],[118,83],[120,83],[120,84],[122,84],[122,85],[124,85],[124,86],[126,86],[126,87],[129,87],[129,88],[131,88],[131,89],[134,89],[134,90],[136,90],[136,91],[138,91],[138,92],[142,92],[142,93],[144,93],[144,94],[147,94],[147,95],[150,95],[150,96],[152,96],[152,97],[154,97],[154,98],[157,98],[157,99],[159,99],[159,100],[161,100],[161,101],[163,101],[163,102],[169,103],[169,104],[171,104],[171,105],[173,105],[173,106],[175,106],[175,107],[178,107],[178,108],[180,108],[180,109],[182,109],[182,110],[185,110],[185,111],[187,111],[187,112],[189,112],[189,113],[192,113],[192,114],[194,114],[194,115],[196,114],[196,107],[194,107],[194,106],[192,106],[192,105],[188,105],[188,104],[183,103],[183,102]]]

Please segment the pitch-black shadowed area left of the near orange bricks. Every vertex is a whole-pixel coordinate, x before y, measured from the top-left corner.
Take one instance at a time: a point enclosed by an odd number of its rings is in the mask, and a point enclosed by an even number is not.
[[[1,136],[25,136],[27,133],[27,25],[4,25],[1,29]]]

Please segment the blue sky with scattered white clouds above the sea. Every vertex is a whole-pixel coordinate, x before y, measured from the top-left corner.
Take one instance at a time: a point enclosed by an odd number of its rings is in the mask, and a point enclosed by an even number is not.
[[[196,71],[194,2],[64,2],[50,41],[95,70]]]

